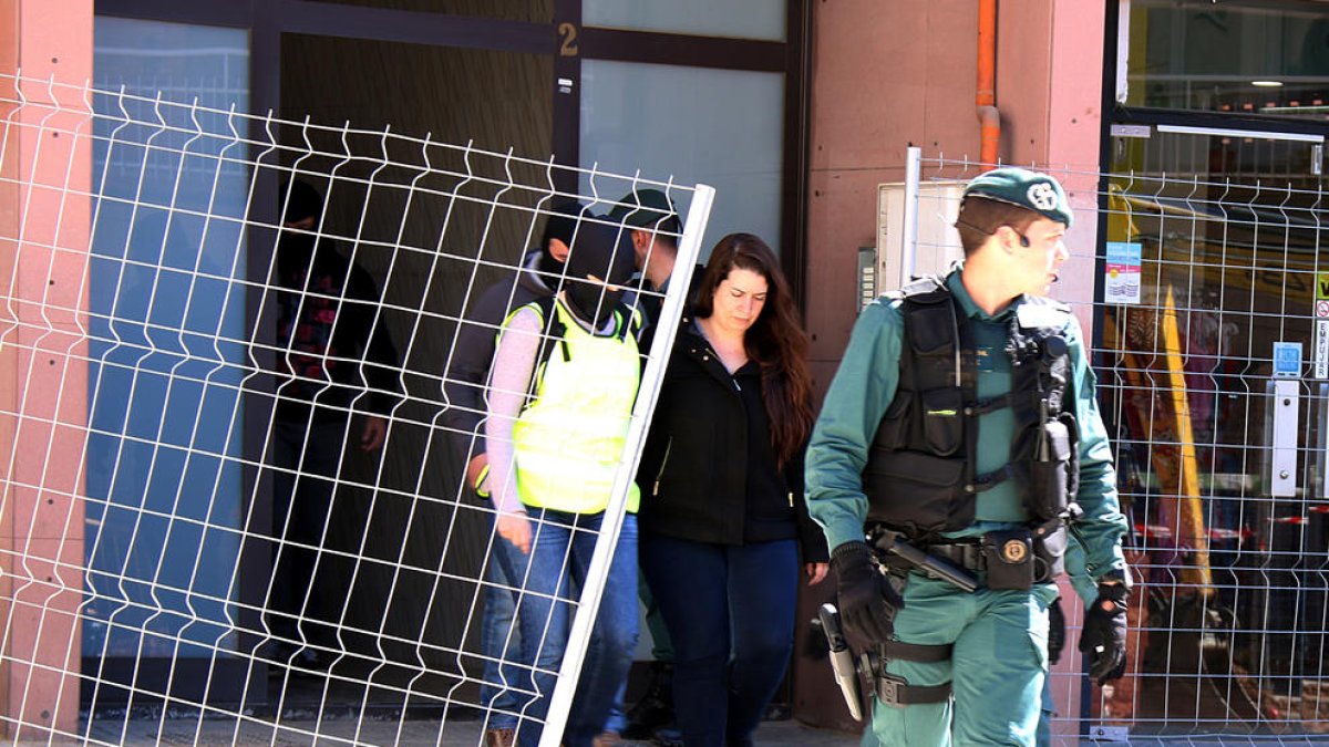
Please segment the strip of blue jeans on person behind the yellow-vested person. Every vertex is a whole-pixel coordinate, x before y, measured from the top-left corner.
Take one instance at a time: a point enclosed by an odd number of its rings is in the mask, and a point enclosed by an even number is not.
[[[480,623],[480,654],[485,670],[480,685],[480,703],[489,710],[488,728],[517,727],[517,694],[506,686],[521,681],[521,670],[510,662],[520,657],[521,630],[513,626],[517,613],[516,584],[504,573],[498,561],[498,542],[489,552],[485,572],[485,613]],[[504,662],[500,669],[498,662]]]

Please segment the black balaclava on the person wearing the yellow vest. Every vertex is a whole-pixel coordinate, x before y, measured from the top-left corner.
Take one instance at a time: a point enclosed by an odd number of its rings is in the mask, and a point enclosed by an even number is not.
[[[591,221],[582,222],[567,255],[567,306],[573,314],[599,328],[623,299],[622,287],[633,279],[633,246],[627,231]],[[595,275],[618,290],[593,283]]]

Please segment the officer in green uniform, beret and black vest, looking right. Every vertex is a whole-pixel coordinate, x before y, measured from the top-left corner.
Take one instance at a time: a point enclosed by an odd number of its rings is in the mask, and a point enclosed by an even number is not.
[[[1034,744],[1067,533],[1098,585],[1087,674],[1124,661],[1112,453],[1080,327],[1045,295],[1071,219],[1047,174],[975,177],[965,261],[869,304],[827,393],[808,509],[844,629],[870,651],[880,744]]]

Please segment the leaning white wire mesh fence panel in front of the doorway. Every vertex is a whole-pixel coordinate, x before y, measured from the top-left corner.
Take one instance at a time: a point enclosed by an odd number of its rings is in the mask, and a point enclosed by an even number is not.
[[[590,574],[553,597],[492,569],[459,340],[569,282],[532,249],[553,217],[630,251],[607,214],[638,189],[691,267],[710,187],[54,81],[0,77],[0,112],[8,736],[481,744],[508,716],[557,744],[683,288],[627,288],[662,310]],[[561,609],[566,654],[524,666],[494,594]]]

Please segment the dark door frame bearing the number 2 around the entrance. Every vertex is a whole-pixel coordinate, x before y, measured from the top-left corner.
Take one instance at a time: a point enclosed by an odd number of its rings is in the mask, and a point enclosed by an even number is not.
[[[581,138],[581,61],[613,60],[653,64],[686,64],[712,69],[760,70],[784,74],[784,129],[780,201],[781,263],[791,280],[796,300],[805,296],[807,267],[807,182],[809,110],[807,86],[811,80],[812,4],[807,0],[787,1],[785,41],[722,39],[657,33],[610,28],[582,27],[582,0],[552,0],[550,23],[530,23],[449,13],[399,11],[350,5],[315,0],[94,0],[97,16],[113,16],[146,21],[182,23],[242,28],[250,33],[250,106],[255,113],[280,110],[282,36],[286,33],[318,35],[433,47],[456,47],[549,54],[553,57],[553,158],[557,163],[579,165]],[[558,82],[571,80],[571,94],[560,93]],[[263,141],[262,120],[255,118],[250,136]],[[534,154],[532,154],[534,156]],[[557,189],[575,193],[577,174],[560,169]],[[251,197],[253,217],[258,223],[276,221],[278,185],[275,177],[255,182]],[[247,246],[260,245],[262,227],[251,227]],[[268,237],[270,238],[270,237]],[[262,263],[249,265],[247,282],[259,287],[267,282]],[[275,320],[259,312],[260,294],[247,294],[246,318],[254,323],[256,339],[275,339]],[[243,510],[253,512],[255,522],[271,522],[271,494],[268,471],[254,465],[262,463],[267,440],[267,411],[263,397],[246,397],[245,429],[242,435],[246,467],[242,480]],[[249,505],[250,496],[259,496]],[[238,601],[241,602],[241,646],[256,643],[251,633],[260,630],[263,590],[270,564],[262,553],[242,553]],[[266,666],[239,671],[218,671],[215,677],[234,681],[237,693],[247,693],[262,702],[267,695]],[[218,662],[221,665],[221,662]],[[130,682],[138,677],[155,675],[166,682],[171,666],[166,662],[133,659],[84,659],[84,670],[98,666],[108,673],[108,685]],[[218,670],[223,667],[218,666]],[[250,682],[245,687],[245,669],[250,669]],[[179,671],[175,673],[179,679]],[[199,678],[191,678],[199,679]],[[205,678],[206,679],[206,678]],[[214,682],[213,691],[223,686]],[[98,696],[100,702],[104,695]]]

